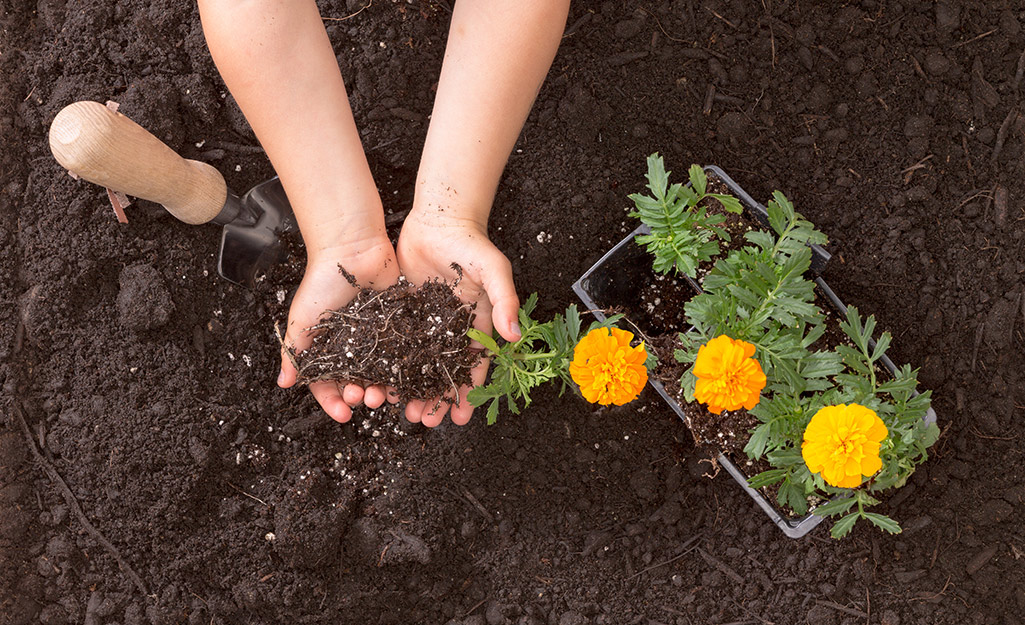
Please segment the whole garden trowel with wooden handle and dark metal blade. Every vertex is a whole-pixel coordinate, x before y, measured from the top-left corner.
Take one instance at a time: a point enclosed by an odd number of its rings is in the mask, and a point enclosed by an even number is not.
[[[162,204],[186,223],[223,225],[217,272],[251,287],[287,256],[283,233],[296,228],[277,176],[241,199],[212,166],[186,160],[124,115],[95,101],[66,107],[50,125],[50,150],[72,174]]]

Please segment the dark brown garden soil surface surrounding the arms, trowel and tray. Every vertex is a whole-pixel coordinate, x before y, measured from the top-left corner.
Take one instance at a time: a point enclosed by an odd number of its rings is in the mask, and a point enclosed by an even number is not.
[[[449,4],[320,4],[396,213]],[[145,202],[118,224],[46,145],[64,106],[114,99],[236,191],[272,175],[194,4],[8,3],[0,622],[1019,622],[1023,26],[1020,0],[576,3],[499,186],[491,236],[542,318],[636,226],[655,151],[779,189],[830,236],[830,285],[921,367],[943,429],[880,506],[904,533],[834,542],[704,477],[651,392],[596,410],[548,389],[427,431],[278,389],[301,253],[242,290],[215,228]]]

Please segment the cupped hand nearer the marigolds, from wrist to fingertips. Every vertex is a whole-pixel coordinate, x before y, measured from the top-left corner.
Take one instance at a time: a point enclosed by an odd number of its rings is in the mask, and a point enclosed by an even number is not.
[[[410,283],[421,285],[433,278],[448,284],[458,281],[455,292],[459,299],[477,304],[475,328],[490,335],[494,327],[505,340],[519,340],[520,300],[512,284],[512,267],[488,239],[485,224],[414,208],[399,237],[398,255],[399,266]],[[462,269],[461,277],[453,263]],[[475,341],[470,348],[480,349],[481,345]],[[475,386],[484,383],[488,365],[489,361],[483,360],[470,371]],[[408,400],[406,418],[435,427],[451,407],[452,422],[464,425],[474,414],[466,399],[469,389],[465,385],[459,388],[458,398],[449,392],[428,401]]]

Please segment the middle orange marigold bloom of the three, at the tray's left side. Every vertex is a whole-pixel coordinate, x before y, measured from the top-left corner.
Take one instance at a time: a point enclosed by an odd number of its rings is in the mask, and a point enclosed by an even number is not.
[[[716,415],[754,408],[766,386],[766,374],[753,356],[754,345],[725,334],[701,345],[691,369],[698,378],[694,399]]]

